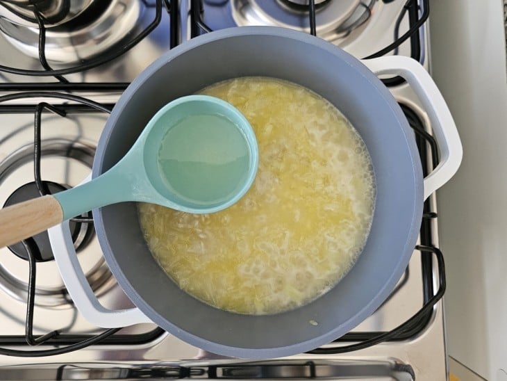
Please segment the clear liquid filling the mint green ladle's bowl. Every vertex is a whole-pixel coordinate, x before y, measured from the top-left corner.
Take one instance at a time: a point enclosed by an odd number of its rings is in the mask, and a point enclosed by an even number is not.
[[[158,170],[181,200],[213,205],[242,188],[249,159],[247,140],[234,122],[223,115],[190,115],[163,137]]]

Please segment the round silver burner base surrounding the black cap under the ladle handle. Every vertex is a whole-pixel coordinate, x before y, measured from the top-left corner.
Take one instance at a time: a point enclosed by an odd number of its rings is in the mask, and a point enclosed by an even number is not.
[[[88,143],[84,139],[81,141],[67,138],[43,139],[41,142],[42,176],[53,180],[53,182],[47,183],[49,189],[56,192],[62,187],[58,184],[72,186],[78,184],[90,172],[94,152],[94,143]],[[73,177],[72,174],[77,177]],[[1,193],[4,197],[3,200],[19,197],[18,195],[12,196],[12,194],[18,193],[15,190],[24,188],[30,181],[33,181],[33,144],[19,147],[0,161],[0,191],[8,189],[8,192]],[[39,195],[33,183],[31,192],[33,192],[31,193],[33,196],[28,197]],[[92,227],[87,226],[91,224],[72,225],[75,225],[73,228],[74,244],[80,249],[78,259],[83,272],[96,295],[103,295],[115,286],[115,279],[102,257],[99,242],[95,234],[92,234]],[[88,229],[92,229],[92,233]],[[75,236],[75,232],[78,236]],[[49,247],[49,245],[47,246]],[[7,254],[9,253],[7,248],[0,249],[0,251],[2,250],[3,252],[0,252],[0,292],[21,302],[26,302],[28,261],[21,259],[22,257],[19,255]],[[43,258],[48,258],[48,254],[42,255]],[[58,309],[72,308],[72,302],[69,302],[55,261],[47,260],[38,264],[35,295],[35,305]]]

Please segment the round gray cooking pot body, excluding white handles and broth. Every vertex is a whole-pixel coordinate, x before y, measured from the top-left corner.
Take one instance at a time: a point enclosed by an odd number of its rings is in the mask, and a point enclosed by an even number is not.
[[[95,228],[119,285],[163,329],[221,355],[293,355],[333,341],[372,314],[404,273],[418,235],[424,190],[413,131],[365,65],[324,40],[288,29],[242,27],[194,38],[160,57],[126,89],[100,138],[92,175],[117,163],[167,102],[238,76],[271,76],[310,88],[335,104],[365,141],[376,206],[365,248],[349,273],[304,307],[269,316],[234,314],[193,298],[167,277],[144,241],[135,203],[95,210]],[[458,156],[440,183],[456,172]]]

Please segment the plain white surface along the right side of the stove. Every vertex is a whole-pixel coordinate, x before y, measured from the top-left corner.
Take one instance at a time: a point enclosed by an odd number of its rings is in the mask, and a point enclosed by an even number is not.
[[[433,77],[463,142],[438,192],[449,355],[507,380],[507,78],[501,0],[431,1]]]

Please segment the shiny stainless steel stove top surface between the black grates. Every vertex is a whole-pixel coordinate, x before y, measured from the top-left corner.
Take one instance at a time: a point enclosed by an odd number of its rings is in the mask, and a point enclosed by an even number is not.
[[[266,3],[270,3],[269,6]],[[304,2],[304,1],[303,1]],[[156,13],[155,1],[139,1],[143,26],[149,25]],[[160,2],[161,3],[161,2]],[[185,43],[197,34],[192,20],[194,1],[180,1],[178,42]],[[290,0],[230,0],[202,2],[201,16],[205,26],[221,29],[235,24],[288,25],[308,29],[297,19],[298,8],[291,8]],[[405,0],[344,1],[317,3],[317,34],[340,45],[357,57],[372,54],[394,39],[394,25],[403,10]],[[341,3],[340,6],[335,4]],[[272,7],[273,9],[269,8]],[[328,7],[326,9],[324,7]],[[340,8],[341,7],[341,8]],[[329,10],[341,12],[339,15]],[[290,17],[280,21],[279,12]],[[327,12],[327,13],[326,13]],[[295,16],[294,16],[295,15]],[[327,18],[324,18],[327,17]],[[306,20],[306,17],[304,17]],[[295,20],[295,21],[294,21]],[[324,20],[324,21],[322,21]],[[294,24],[295,23],[295,24]],[[299,24],[297,24],[299,23]],[[319,24],[321,23],[321,24]],[[297,24],[297,25],[296,25]],[[408,29],[408,17],[401,22],[400,31]],[[122,83],[131,81],[144,67],[171,46],[169,15],[163,12],[156,29],[121,57],[86,72],[65,75],[72,83],[109,83],[111,86],[91,86],[72,90],[72,94],[89,97],[113,106],[122,92]],[[422,59],[427,48],[426,27],[422,31]],[[199,31],[203,33],[203,31]],[[174,43],[174,41],[173,41]],[[13,47],[0,33],[0,65],[40,70],[40,63]],[[410,55],[410,44],[404,43],[399,54]],[[49,62],[54,69],[65,67]],[[428,60],[424,60],[428,67]],[[67,90],[55,83],[51,76],[20,76],[1,74],[0,95],[26,90]],[[19,88],[17,83],[31,83]],[[39,85],[40,83],[40,85]],[[408,106],[419,118],[424,129],[431,131],[429,120],[417,97],[406,85],[391,88],[401,104]],[[1,98],[0,98],[1,100]],[[75,186],[90,172],[94,147],[108,117],[107,113],[90,111],[72,102],[52,97],[26,97],[0,102],[0,203],[20,186],[33,181],[33,108],[39,102],[60,105],[67,110],[66,117],[53,113],[42,114],[41,173],[46,181]],[[431,199],[435,211],[435,199]],[[429,218],[433,245],[438,247],[438,229],[435,218]],[[423,239],[423,237],[422,237]],[[425,243],[426,244],[426,243]],[[406,274],[387,302],[365,322],[356,327],[348,341],[330,344],[341,346],[388,332],[413,316],[424,302],[428,287],[438,289],[435,261],[422,260],[430,254],[415,250]],[[101,257],[96,238],[78,248],[78,259],[99,301],[108,308],[131,307],[131,302],[119,289]],[[427,274],[429,271],[429,281]],[[426,275],[425,275],[426,274]],[[28,264],[11,253],[0,249],[0,347],[30,349],[23,345],[25,329],[26,289]],[[426,290],[425,290],[426,289]],[[426,294],[425,294],[426,293]],[[431,295],[429,295],[431,296]],[[426,297],[429,297],[426,295]],[[35,297],[34,331],[44,334],[61,330],[61,334],[97,334],[94,327],[81,316],[69,300],[54,261],[38,264]],[[435,306],[429,320],[420,323],[411,334],[401,340],[388,341],[376,346],[340,355],[303,354],[288,359],[270,359],[265,362],[244,364],[243,360],[222,358],[203,352],[182,341],[160,332],[153,324],[140,324],[120,331],[118,342],[81,349],[55,357],[19,358],[0,356],[0,378],[8,380],[61,380],[76,378],[138,379],[138,378],[352,378],[358,380],[444,380],[446,358],[442,302]],[[133,335],[133,336],[128,336]],[[125,339],[126,338],[126,339]],[[62,343],[63,345],[63,343]],[[44,346],[51,348],[51,346]],[[41,349],[41,348],[38,348]],[[240,365],[241,364],[241,365]]]

